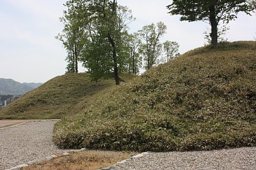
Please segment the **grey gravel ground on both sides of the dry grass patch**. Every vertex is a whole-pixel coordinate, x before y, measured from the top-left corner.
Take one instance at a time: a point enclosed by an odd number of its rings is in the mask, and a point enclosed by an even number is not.
[[[0,170],[30,160],[58,155],[65,150],[52,143],[52,129],[56,121],[28,122],[0,130]],[[256,147],[213,150],[209,152],[148,153],[124,164],[116,170],[146,169],[256,169]]]

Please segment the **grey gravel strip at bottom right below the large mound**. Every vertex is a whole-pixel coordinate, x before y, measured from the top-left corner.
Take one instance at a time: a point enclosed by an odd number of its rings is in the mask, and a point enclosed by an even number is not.
[[[146,169],[256,169],[256,148],[235,148],[209,152],[148,153],[124,164],[116,170]]]

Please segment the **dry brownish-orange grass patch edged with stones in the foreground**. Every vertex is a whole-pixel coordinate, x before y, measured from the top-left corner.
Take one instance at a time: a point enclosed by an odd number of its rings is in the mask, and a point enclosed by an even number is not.
[[[134,152],[109,152],[87,150],[84,152],[70,153],[69,156],[57,157],[51,161],[37,163],[24,169],[99,169],[112,166],[124,159],[136,155]]]

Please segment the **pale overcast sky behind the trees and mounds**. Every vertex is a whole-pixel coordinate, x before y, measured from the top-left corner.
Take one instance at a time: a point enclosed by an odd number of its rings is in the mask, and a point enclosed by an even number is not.
[[[63,29],[60,17],[66,0],[0,0],[0,78],[41,82],[65,74],[67,53],[54,37]],[[168,14],[170,0],[118,0],[132,10],[130,32],[159,21],[167,25],[161,41],[177,41],[180,53],[204,46],[205,22],[180,22],[179,16]],[[256,15],[239,13],[228,24],[228,41],[252,41],[256,37]],[[79,72],[83,72],[79,67]]]

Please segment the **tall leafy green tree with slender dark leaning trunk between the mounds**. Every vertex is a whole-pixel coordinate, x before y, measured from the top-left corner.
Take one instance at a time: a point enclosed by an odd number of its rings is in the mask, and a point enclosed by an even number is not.
[[[125,65],[125,56],[128,55],[125,52],[129,53],[123,40],[127,34],[127,24],[133,19],[131,11],[119,6],[116,0],[68,0],[66,6],[68,11],[82,18],[79,24],[85,36],[79,54],[92,79],[97,81],[113,71],[116,85],[119,85],[118,69]],[[67,17],[64,15],[63,18],[67,20]],[[70,15],[70,18],[76,20],[76,15]],[[72,31],[70,27],[67,30]],[[72,42],[75,42],[74,39]]]

